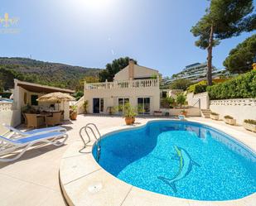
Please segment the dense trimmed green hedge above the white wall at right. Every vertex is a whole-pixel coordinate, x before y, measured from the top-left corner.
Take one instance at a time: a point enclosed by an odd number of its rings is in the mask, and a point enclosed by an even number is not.
[[[207,87],[210,99],[256,98],[256,70]]]

